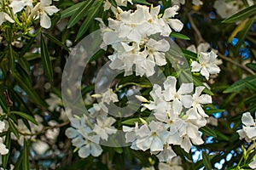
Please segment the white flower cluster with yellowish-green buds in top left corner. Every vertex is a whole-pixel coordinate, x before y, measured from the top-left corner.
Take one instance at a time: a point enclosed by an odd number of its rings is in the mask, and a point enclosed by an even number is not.
[[[41,0],[33,3],[32,0],[11,0],[2,1],[5,4],[4,8],[0,8],[0,26],[9,21],[16,23],[18,26],[31,26],[33,20],[40,19],[40,26],[48,29],[51,26],[49,16],[59,11],[54,5],[51,5],[51,0]],[[23,23],[25,23],[23,25]]]

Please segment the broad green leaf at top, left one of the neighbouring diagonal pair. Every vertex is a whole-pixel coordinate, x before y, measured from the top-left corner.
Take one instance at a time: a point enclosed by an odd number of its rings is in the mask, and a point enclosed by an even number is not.
[[[71,28],[72,26],[74,26],[77,22],[79,22],[79,20],[81,20],[83,17],[85,17],[88,13],[89,9],[91,7],[94,7],[91,5],[91,3],[93,3],[93,0],[89,0],[86,3],[82,3],[80,8],[77,9],[77,12],[74,13],[71,17],[71,19],[68,21],[67,23],[67,29]]]

